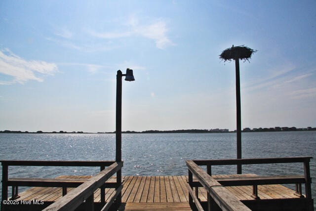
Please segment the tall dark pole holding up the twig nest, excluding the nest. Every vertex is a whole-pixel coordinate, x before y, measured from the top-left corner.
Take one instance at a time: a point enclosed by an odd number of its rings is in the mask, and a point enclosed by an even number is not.
[[[239,58],[235,59],[236,66],[236,108],[237,108],[237,159],[241,159],[241,109],[240,109],[240,77]],[[241,165],[237,165],[237,174],[241,174]]]

